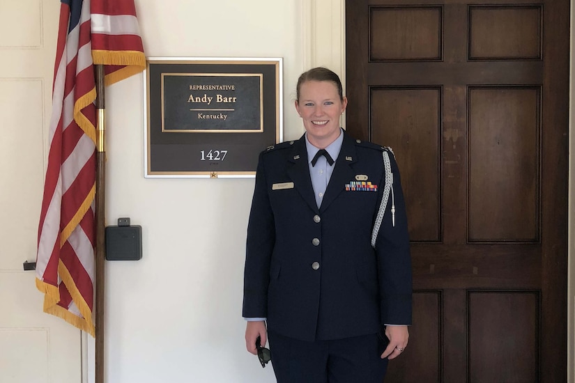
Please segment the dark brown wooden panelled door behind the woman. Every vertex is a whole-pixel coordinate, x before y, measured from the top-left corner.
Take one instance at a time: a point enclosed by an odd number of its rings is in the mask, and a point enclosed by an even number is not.
[[[567,0],[347,0],[346,127],[391,146],[412,241],[386,382],[567,380]]]

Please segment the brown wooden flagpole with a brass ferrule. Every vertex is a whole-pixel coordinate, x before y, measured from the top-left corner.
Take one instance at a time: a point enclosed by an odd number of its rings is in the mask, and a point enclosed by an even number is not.
[[[96,192],[95,192],[95,383],[104,383],[104,293],[105,293],[105,208],[106,208],[106,151],[105,151],[105,86],[104,65],[94,65],[96,83]]]

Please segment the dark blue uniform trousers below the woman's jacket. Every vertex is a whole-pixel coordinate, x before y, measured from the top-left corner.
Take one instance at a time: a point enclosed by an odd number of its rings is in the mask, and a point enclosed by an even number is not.
[[[382,383],[388,359],[377,334],[306,342],[268,330],[277,383]]]

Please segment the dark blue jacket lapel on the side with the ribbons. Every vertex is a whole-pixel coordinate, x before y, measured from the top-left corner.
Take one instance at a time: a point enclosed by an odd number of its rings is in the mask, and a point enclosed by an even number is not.
[[[333,169],[330,183],[325,190],[323,201],[321,202],[320,211],[325,211],[330,204],[345,190],[345,185],[353,179],[353,169],[351,164],[357,161],[355,155],[355,143],[353,139],[344,132],[344,141],[342,142],[342,150],[339,151],[337,160],[335,161],[335,168]],[[311,180],[309,181],[311,183]],[[313,196],[313,190],[312,190]]]

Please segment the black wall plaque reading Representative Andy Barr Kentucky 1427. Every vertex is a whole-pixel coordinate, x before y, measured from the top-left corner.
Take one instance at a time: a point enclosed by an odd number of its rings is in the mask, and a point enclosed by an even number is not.
[[[146,177],[253,177],[282,141],[281,58],[148,58]]]

